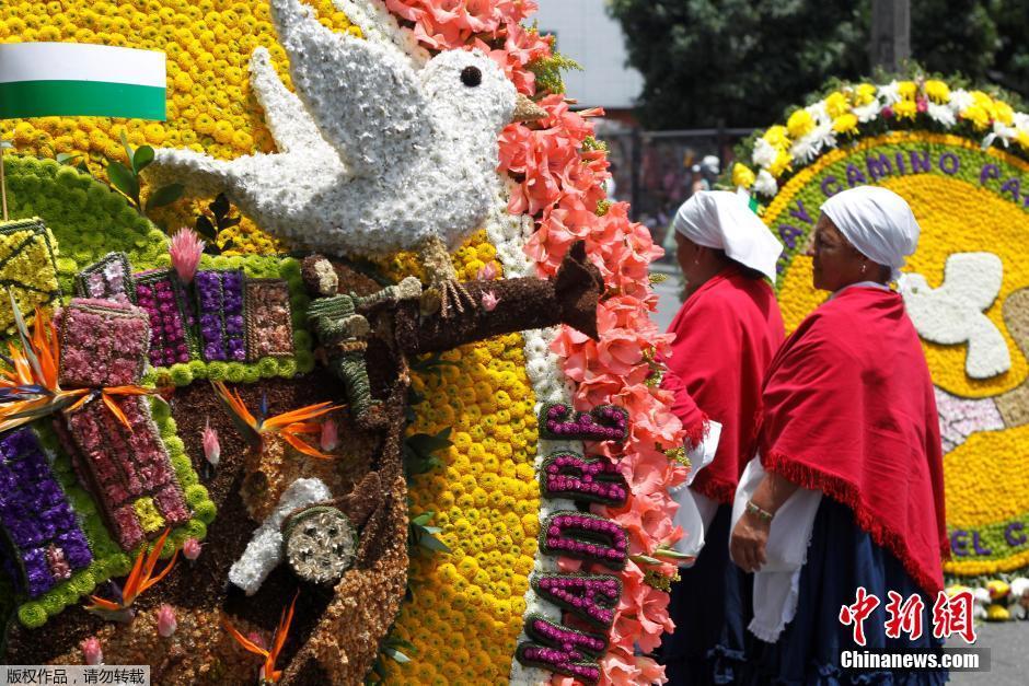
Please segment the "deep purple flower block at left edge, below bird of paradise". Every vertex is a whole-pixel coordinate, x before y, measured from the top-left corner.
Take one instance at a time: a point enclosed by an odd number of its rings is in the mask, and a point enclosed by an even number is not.
[[[14,545],[32,597],[93,560],[38,439],[28,428],[0,437],[0,526]]]

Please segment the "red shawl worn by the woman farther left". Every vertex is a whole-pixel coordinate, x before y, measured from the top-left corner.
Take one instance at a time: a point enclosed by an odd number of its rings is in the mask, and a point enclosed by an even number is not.
[[[661,387],[675,394],[672,411],[695,445],[710,418],[721,425],[715,460],[692,488],[731,503],[743,467],[754,455],[761,386],[783,342],[783,317],[772,288],[729,267],[683,303],[669,327],[675,334]]]

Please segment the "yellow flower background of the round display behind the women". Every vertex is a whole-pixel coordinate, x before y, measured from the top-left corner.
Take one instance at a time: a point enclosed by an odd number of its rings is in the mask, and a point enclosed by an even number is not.
[[[905,148],[906,146],[906,148]],[[913,146],[913,148],[912,148]],[[981,146],[956,136],[924,132],[894,132],[868,138],[855,147],[834,150],[794,176],[767,207],[763,218],[770,226],[789,221],[794,226],[807,228],[793,216],[797,200],[805,206],[808,217],[817,219],[821,194],[820,184],[826,171],[835,165],[839,174],[844,161],[877,155],[888,156],[902,150],[929,151],[940,155],[946,151],[968,151],[981,155],[986,162],[1007,165],[1017,173],[1029,171],[1029,164],[1002,151],[983,152]],[[895,158],[893,158],[895,159]],[[1004,265],[1001,292],[985,312],[1004,336],[1011,358],[1009,371],[985,380],[973,380],[964,373],[967,346],[943,346],[923,341],[933,380],[948,393],[964,398],[992,398],[1011,391],[1029,376],[1029,360],[1005,325],[1002,310],[1005,300],[1019,289],[1029,288],[1029,264],[1025,246],[1029,241],[1029,216],[1020,201],[998,193],[999,183],[987,187],[979,182],[979,166],[974,176],[940,173],[895,174],[879,179],[879,184],[903,196],[912,207],[922,226],[917,252],[909,259],[905,271],[923,275],[929,287],[944,281],[944,265],[955,253],[988,252],[998,256]],[[1020,199],[1019,199],[1020,200]],[[798,237],[802,244],[806,237]],[[801,251],[802,253],[802,251]],[[824,302],[826,293],[811,287],[811,260],[796,255],[779,281],[779,304],[788,330]],[[1003,525],[1029,519],[1029,426],[1001,431],[973,433],[967,442],[945,455],[947,524],[951,531],[983,532],[981,549],[986,549],[985,532],[994,531],[994,540],[1003,539]],[[1029,531],[1029,526],[1026,526]],[[974,553],[974,546],[970,545]],[[978,575],[1011,571],[1029,565],[1029,549],[1016,546],[1008,556],[969,555],[955,557],[946,565],[947,571]]]

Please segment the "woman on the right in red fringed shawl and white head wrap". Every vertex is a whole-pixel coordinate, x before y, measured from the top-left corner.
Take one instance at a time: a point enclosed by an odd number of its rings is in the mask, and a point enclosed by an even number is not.
[[[888,286],[914,252],[918,224],[886,188],[845,190],[821,209],[809,255],[814,287],[833,295],[772,362],[758,458],[736,498],[730,553],[756,572],[748,628],[759,640],[731,677],[944,683],[946,671],[842,664],[848,650],[938,648],[932,608],[948,546],[933,383],[903,300]],[[874,609],[864,604],[871,613],[863,621],[858,589],[878,598]],[[921,637],[887,631],[891,592],[915,598],[909,608]]]

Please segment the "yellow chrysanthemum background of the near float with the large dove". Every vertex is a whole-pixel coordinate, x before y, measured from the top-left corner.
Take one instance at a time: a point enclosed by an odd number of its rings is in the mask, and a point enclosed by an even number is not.
[[[335,31],[359,33],[331,0],[305,0]],[[231,0],[132,0],[127,2],[4,2],[0,40],[60,40],[163,50],[167,54],[167,121],[101,117],[47,117],[5,121],[5,138],[27,154],[80,153],[103,177],[105,159],[125,161],[119,137],[132,144],[192,148],[221,159],[269,152],[274,142],[251,93],[247,60],[257,46],[269,49],[289,84],[287,57],[277,43],[268,3]],[[200,202],[181,201],[152,219],[192,225]],[[248,220],[231,230],[231,253],[273,254],[282,245]],[[496,249],[479,231],[453,257],[458,276],[475,278],[496,261]],[[386,270],[420,276],[411,255]],[[413,598],[396,621],[409,641],[412,661],[385,661],[395,683],[499,683],[506,681],[521,630],[523,596],[536,551],[540,505],[533,474],[536,453],[535,397],[525,375],[523,339],[498,337],[443,354],[439,373],[416,374],[412,432],[452,428],[453,446],[442,466],[416,476],[413,514],[433,512],[433,524],[450,554],[416,553]]]

